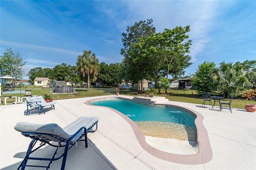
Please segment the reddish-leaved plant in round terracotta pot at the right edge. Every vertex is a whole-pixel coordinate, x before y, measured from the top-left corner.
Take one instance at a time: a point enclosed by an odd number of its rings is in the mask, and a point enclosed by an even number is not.
[[[253,99],[255,99],[256,96],[256,90],[255,89],[249,89],[245,90],[243,92],[243,97],[246,98],[248,103],[245,105],[245,109],[248,112],[255,112],[256,111],[256,103],[253,102]]]

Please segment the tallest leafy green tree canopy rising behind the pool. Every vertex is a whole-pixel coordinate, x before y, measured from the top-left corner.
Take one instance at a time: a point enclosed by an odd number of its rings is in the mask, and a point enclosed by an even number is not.
[[[122,39],[125,43],[121,54],[124,55],[123,63],[127,80],[132,82],[143,79],[154,80],[159,91],[158,81],[163,75],[166,78],[169,74],[173,77],[181,76],[185,73],[184,70],[191,65],[189,56],[191,40],[188,36],[190,27],[175,27],[155,33],[153,21],[148,21],[151,22],[147,27],[138,29],[138,23],[135,22],[132,27],[129,27],[133,29],[126,30],[127,33],[123,38],[126,41]],[[143,23],[143,21],[139,23]],[[145,33],[148,30],[154,31]],[[131,38],[128,39],[127,35],[131,35]]]

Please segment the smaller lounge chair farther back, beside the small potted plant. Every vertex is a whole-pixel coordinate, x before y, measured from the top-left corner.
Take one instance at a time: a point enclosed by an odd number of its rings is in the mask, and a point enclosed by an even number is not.
[[[27,102],[27,109],[24,111],[24,115],[35,114],[30,113],[33,110],[38,110],[39,114],[45,114],[45,109],[55,109],[54,104],[56,104],[56,101],[46,102],[42,96],[29,97],[25,100]]]

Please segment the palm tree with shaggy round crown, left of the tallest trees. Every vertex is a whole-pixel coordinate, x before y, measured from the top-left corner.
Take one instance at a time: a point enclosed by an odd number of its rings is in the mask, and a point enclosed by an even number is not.
[[[79,55],[77,58],[77,69],[85,77],[87,75],[87,88],[90,88],[90,78],[92,77],[95,81],[95,77],[99,71],[98,58],[90,50],[84,50],[83,55]]]

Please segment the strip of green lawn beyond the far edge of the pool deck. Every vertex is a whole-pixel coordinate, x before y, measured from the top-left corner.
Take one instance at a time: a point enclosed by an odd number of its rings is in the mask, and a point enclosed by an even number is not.
[[[19,89],[15,89],[19,90]],[[24,89],[21,89],[24,90]],[[169,89],[169,94],[164,94],[164,91],[162,90],[160,95],[157,96],[163,96],[171,101],[181,101],[186,103],[194,103],[194,104],[202,104],[202,97],[197,95],[197,92],[195,90],[177,90],[177,89]],[[59,99],[69,99],[69,98],[81,98],[81,97],[91,97],[91,96],[103,96],[103,95],[113,95],[115,94],[115,89],[91,89],[90,91],[87,91],[87,89],[76,89],[76,93],[74,94],[52,94],[51,89],[31,89],[31,94],[34,96],[43,96],[44,94],[49,94],[54,100]],[[121,90],[121,95],[129,95],[129,96],[143,96],[144,94],[134,92],[131,90]],[[23,97],[25,94],[21,94],[21,97]],[[20,96],[20,94],[3,94],[2,97],[2,103],[4,100],[4,97],[9,96]],[[228,99],[223,99],[224,101],[228,101]],[[8,99],[8,102],[14,101],[14,99]],[[207,105],[208,103],[206,103]],[[219,104],[216,104],[219,106]],[[241,108],[244,109],[244,106],[246,105],[246,101],[244,99],[235,98],[232,101],[231,106],[234,108]]]

